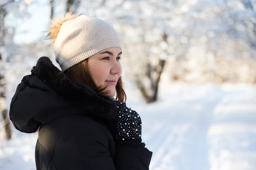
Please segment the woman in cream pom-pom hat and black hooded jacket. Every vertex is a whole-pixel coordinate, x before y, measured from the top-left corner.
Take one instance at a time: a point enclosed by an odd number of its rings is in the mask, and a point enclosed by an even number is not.
[[[148,170],[152,152],[140,116],[125,104],[116,31],[68,13],[52,20],[49,38],[62,71],[41,57],[17,86],[9,113],[21,132],[39,127],[37,170]]]

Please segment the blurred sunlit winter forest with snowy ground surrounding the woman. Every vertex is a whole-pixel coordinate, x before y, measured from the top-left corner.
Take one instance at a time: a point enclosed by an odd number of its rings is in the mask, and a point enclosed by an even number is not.
[[[40,57],[59,68],[47,28],[67,11],[121,37],[151,170],[256,170],[256,0],[0,0],[0,170],[36,169],[9,106]]]

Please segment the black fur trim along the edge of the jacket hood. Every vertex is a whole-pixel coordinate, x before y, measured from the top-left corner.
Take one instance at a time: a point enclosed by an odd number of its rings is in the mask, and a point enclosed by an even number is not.
[[[48,57],[38,59],[31,73],[42,79],[55,94],[82,108],[84,112],[103,119],[116,120],[116,104],[110,97],[70,80]]]

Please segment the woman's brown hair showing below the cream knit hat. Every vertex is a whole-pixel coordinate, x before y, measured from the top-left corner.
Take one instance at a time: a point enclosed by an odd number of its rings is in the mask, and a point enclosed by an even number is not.
[[[64,74],[66,74],[67,77],[69,77],[70,79],[76,82],[88,85],[94,91],[99,92],[101,94],[107,95],[110,92],[110,91],[105,91],[108,85],[101,86],[101,87],[96,86],[89,71],[88,58],[68,68],[66,71],[64,71]],[[126,101],[126,94],[123,89],[122,77],[118,79],[116,84],[116,100],[118,100],[119,102]]]

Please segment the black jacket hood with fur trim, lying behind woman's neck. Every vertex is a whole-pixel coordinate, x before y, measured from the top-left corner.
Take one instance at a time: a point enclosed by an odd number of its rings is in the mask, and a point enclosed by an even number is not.
[[[110,97],[70,80],[48,57],[41,57],[31,74],[17,86],[10,119],[17,130],[33,133],[42,123],[67,114],[88,114],[114,121],[116,104]]]

